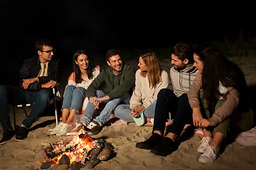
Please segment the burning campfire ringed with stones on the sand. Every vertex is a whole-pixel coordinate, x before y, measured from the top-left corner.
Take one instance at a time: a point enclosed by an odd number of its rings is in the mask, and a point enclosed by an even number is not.
[[[110,142],[92,140],[81,129],[71,140],[61,139],[37,152],[34,160],[41,163],[41,169],[52,169],[53,166],[63,166],[63,169],[80,169],[86,166],[92,169],[101,161],[111,159],[113,154],[114,147]]]

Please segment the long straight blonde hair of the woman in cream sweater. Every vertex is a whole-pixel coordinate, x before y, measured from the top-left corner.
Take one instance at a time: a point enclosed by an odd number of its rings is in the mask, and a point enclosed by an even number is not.
[[[142,60],[148,67],[147,72],[140,73],[141,76],[146,77],[147,75],[149,79],[149,87],[155,88],[161,81],[161,69],[156,55],[154,52],[146,52],[139,57],[142,57]]]

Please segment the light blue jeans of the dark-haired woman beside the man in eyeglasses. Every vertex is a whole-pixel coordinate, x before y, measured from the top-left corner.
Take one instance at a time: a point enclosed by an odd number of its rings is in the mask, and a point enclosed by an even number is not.
[[[82,103],[86,97],[86,90],[82,87],[67,86],[63,98],[62,108],[68,108],[69,110],[75,109],[81,111]]]

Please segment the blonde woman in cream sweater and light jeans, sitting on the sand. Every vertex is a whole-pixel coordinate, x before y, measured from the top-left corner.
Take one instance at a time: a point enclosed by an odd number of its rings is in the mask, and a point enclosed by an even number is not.
[[[154,118],[157,94],[169,85],[168,74],[160,69],[154,52],[140,55],[138,66],[130,105],[119,105],[114,111],[114,115],[124,123],[134,122],[134,118],[139,118],[142,111],[145,122]]]

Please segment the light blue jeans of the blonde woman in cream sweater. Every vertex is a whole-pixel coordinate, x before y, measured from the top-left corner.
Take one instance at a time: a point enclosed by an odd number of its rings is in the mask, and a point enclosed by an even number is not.
[[[156,108],[156,101],[151,103],[145,111],[144,115],[146,118],[154,118],[154,113],[155,113],[155,108]],[[129,104],[121,104],[117,106],[117,108],[114,110],[114,115],[123,120],[124,122],[134,122],[134,119],[132,118],[131,110]]]

